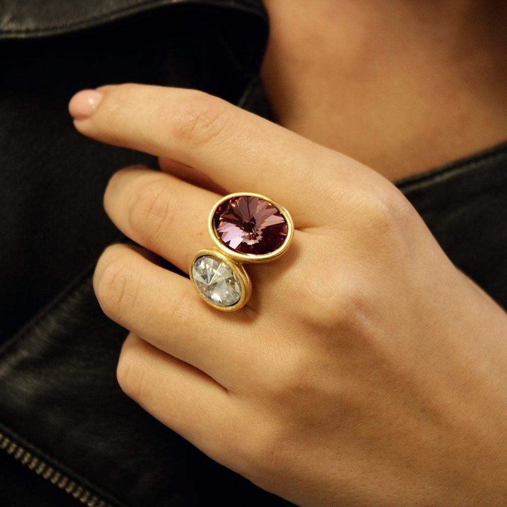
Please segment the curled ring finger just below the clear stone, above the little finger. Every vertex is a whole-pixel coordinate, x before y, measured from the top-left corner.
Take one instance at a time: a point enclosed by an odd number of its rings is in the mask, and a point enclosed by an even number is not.
[[[250,359],[255,314],[217,312],[195,294],[190,280],[153,264],[138,247],[108,247],[93,284],[106,315],[222,385],[237,378],[244,368],[242,358]],[[242,339],[230,340],[231,336]]]

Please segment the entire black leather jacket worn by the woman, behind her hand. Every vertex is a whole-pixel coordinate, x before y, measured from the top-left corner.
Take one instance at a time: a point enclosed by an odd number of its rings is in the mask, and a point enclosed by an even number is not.
[[[102,192],[118,168],[155,161],[84,138],[67,113],[76,91],[131,81],[199,88],[267,116],[266,35],[256,0],[0,4],[0,504],[287,505],[120,391],[126,333],[91,287],[100,252],[121,239]],[[450,258],[504,307],[506,166],[503,144],[399,182]]]

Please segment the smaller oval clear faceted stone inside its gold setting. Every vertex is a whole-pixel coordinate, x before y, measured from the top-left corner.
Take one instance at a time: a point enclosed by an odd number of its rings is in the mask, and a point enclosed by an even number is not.
[[[197,290],[215,305],[231,306],[241,297],[237,276],[220,259],[208,255],[198,257],[192,267],[192,277]]]

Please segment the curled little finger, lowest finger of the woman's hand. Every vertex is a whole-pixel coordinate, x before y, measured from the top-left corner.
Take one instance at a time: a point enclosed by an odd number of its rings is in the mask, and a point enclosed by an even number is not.
[[[117,377],[127,395],[212,459],[252,473],[248,453],[263,449],[264,413],[133,334],[122,347]]]

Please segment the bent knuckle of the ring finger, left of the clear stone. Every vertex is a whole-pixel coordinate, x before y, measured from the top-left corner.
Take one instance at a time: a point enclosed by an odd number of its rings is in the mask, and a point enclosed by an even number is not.
[[[106,251],[102,259],[107,257]],[[135,306],[138,286],[138,274],[131,265],[130,256],[101,260],[99,266],[94,278],[97,300],[108,317],[124,322]]]

